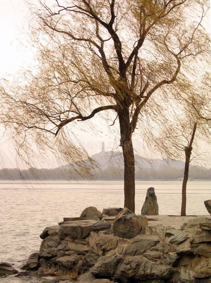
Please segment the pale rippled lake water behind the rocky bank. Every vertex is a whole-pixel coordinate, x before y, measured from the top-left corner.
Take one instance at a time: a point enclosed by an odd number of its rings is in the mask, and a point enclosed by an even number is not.
[[[180,215],[181,181],[136,181],[136,214],[141,214],[147,188],[153,186],[160,215]],[[123,181],[0,181],[0,261],[19,270],[39,250],[39,235],[63,217],[80,216],[88,206],[99,211],[123,207]],[[187,215],[208,215],[204,200],[211,199],[211,181],[189,181]],[[14,276],[0,282],[42,282]]]

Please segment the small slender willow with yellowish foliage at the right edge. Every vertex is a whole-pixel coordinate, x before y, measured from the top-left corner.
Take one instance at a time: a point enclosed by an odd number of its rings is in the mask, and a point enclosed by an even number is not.
[[[207,62],[207,68],[210,67]],[[188,83],[189,81],[189,83]],[[188,80],[177,85],[177,98],[171,118],[159,125],[156,146],[163,155],[184,159],[184,177],[182,182],[181,216],[186,216],[186,187],[189,167],[192,160],[210,163],[208,153],[211,142],[211,76],[199,75],[197,80]],[[179,103],[178,103],[179,102]],[[159,121],[161,122],[161,121]]]

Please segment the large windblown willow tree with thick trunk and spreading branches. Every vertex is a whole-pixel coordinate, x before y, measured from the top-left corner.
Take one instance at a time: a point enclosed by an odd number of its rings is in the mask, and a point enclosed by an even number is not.
[[[49,134],[61,137],[69,124],[82,128],[81,121],[102,112],[111,123],[116,116],[124,157],[124,206],[135,211],[132,134],[144,108],[153,107],[152,97],[162,96],[165,86],[173,86],[185,70],[183,66],[191,68],[191,60],[207,52],[202,22],[208,1],[27,4],[33,12],[32,42],[40,50],[38,66],[36,74],[23,76],[24,87],[3,86],[6,127],[14,125],[24,141],[28,135],[39,142]]]

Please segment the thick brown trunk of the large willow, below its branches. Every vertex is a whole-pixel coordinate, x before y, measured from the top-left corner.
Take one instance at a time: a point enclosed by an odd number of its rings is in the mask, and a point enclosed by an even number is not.
[[[120,125],[120,146],[124,157],[124,194],[125,203],[132,212],[135,212],[135,159],[131,140],[131,125],[128,109],[118,113]]]

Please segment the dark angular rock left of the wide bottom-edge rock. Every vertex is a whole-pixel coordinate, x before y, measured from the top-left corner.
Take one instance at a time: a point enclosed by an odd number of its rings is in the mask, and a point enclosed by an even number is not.
[[[90,272],[97,276],[110,277],[114,275],[120,261],[121,257],[119,256],[102,256],[97,260],[96,264],[91,267]]]

